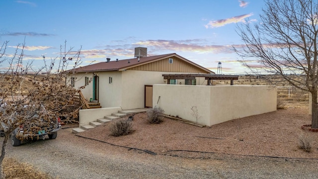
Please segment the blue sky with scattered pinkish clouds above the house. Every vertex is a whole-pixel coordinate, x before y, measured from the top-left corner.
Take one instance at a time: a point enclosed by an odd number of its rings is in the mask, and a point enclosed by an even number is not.
[[[263,0],[1,0],[0,44],[11,57],[25,39],[23,60],[34,69],[60,57],[60,47],[81,47],[82,66],[176,53],[217,73],[248,72],[232,46],[241,46],[241,23],[259,23]],[[7,68],[0,64],[0,71]]]

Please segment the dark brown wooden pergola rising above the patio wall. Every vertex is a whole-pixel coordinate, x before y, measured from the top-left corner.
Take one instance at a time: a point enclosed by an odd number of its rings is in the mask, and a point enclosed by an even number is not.
[[[170,80],[195,80],[196,77],[205,77],[208,80],[209,86],[212,85],[211,80],[231,80],[231,85],[233,85],[233,80],[239,80],[238,75],[215,75],[215,74],[163,74],[163,79],[167,80],[167,84],[170,84]]]

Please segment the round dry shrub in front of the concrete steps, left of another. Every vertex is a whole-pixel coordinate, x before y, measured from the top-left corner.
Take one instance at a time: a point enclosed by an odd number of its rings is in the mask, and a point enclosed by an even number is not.
[[[109,126],[111,136],[123,136],[133,133],[133,122],[127,119],[115,119]]]

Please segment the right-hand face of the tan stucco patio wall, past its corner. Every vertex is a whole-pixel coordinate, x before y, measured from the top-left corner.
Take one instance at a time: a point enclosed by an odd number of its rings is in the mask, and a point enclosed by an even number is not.
[[[210,125],[276,111],[276,108],[276,87],[215,86],[211,90]]]

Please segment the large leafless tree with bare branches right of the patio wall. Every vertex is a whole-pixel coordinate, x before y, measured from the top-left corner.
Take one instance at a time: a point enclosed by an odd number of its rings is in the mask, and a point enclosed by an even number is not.
[[[317,0],[267,0],[259,23],[238,26],[245,46],[233,47],[251,72],[280,75],[312,94],[312,128],[318,128],[317,25]]]

